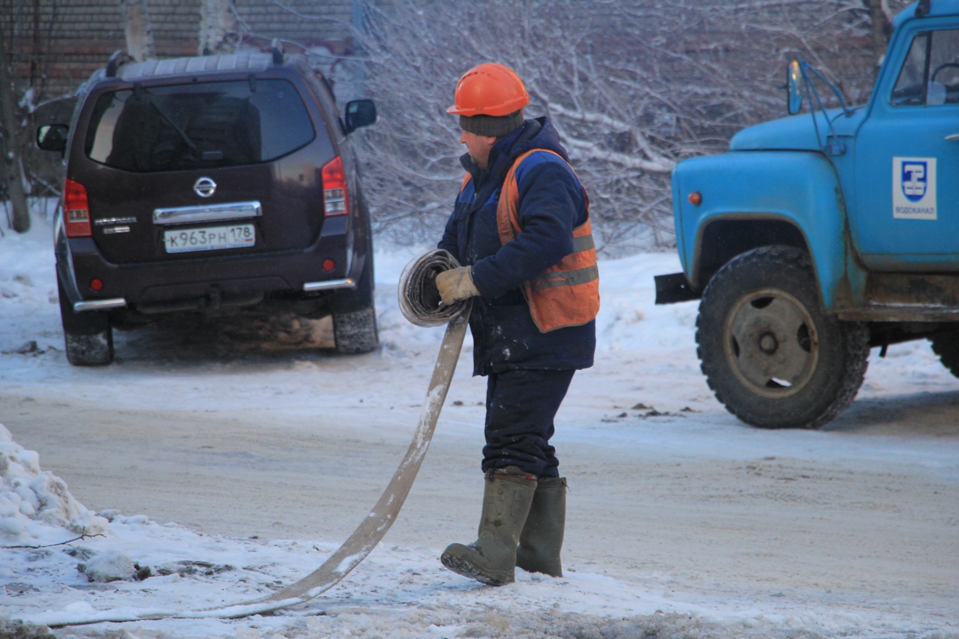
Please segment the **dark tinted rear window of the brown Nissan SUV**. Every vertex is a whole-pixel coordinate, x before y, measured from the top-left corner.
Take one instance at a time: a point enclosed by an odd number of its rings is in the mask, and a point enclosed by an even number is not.
[[[276,159],[315,135],[287,80],[138,86],[100,96],[86,155],[125,171],[216,169]]]

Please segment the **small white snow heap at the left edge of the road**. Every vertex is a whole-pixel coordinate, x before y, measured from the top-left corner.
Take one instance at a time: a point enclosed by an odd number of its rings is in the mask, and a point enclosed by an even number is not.
[[[106,519],[74,499],[66,482],[40,470],[40,456],[16,444],[0,423],[0,540],[3,545],[38,545],[74,535],[102,535]]]

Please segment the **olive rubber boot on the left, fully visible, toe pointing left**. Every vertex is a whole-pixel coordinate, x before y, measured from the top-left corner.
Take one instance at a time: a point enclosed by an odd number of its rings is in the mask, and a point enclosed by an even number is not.
[[[507,467],[486,473],[479,538],[468,546],[450,544],[440,560],[463,577],[486,585],[515,580],[516,547],[536,492],[536,476]]]

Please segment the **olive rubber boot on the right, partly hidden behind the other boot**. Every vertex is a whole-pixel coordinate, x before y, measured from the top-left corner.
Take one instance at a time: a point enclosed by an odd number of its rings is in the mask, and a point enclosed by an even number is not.
[[[563,576],[559,551],[566,527],[566,478],[541,477],[516,549],[516,565],[530,573]]]

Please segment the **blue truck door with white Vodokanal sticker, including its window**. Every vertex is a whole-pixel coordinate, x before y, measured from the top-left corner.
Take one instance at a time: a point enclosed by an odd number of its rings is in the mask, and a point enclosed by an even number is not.
[[[959,270],[959,21],[903,28],[856,137],[854,238],[875,270]]]

